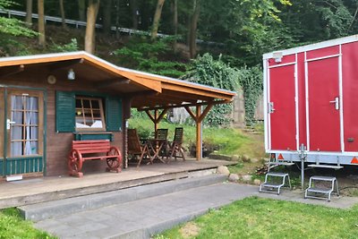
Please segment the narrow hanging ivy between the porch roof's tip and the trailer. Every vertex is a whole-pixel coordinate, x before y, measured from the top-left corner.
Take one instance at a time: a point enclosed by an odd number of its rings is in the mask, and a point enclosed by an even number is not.
[[[262,70],[260,66],[244,66],[239,71],[240,85],[243,87],[245,99],[245,122],[247,125],[254,123],[256,104],[262,95]]]

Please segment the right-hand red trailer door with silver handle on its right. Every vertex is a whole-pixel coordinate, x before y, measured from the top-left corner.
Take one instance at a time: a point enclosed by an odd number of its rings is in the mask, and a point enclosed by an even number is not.
[[[339,58],[306,62],[311,151],[340,151]]]

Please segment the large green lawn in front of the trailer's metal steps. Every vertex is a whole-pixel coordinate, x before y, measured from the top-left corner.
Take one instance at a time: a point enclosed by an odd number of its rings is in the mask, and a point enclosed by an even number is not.
[[[251,197],[156,235],[180,238],[357,238],[358,206],[330,209]]]

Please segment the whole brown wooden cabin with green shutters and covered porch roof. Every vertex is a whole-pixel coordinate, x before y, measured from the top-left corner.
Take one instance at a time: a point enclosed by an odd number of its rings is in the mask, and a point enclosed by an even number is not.
[[[200,130],[209,109],[234,95],[118,67],[86,52],[0,58],[0,175],[65,175],[73,140],[107,139],[125,157],[131,107],[148,112],[155,125],[168,108],[186,107]],[[90,160],[83,171],[105,168]]]

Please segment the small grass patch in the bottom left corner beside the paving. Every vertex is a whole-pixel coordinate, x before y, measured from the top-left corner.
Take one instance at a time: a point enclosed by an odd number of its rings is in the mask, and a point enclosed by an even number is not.
[[[21,218],[17,209],[0,211],[0,238],[56,238],[32,226],[30,221]]]

